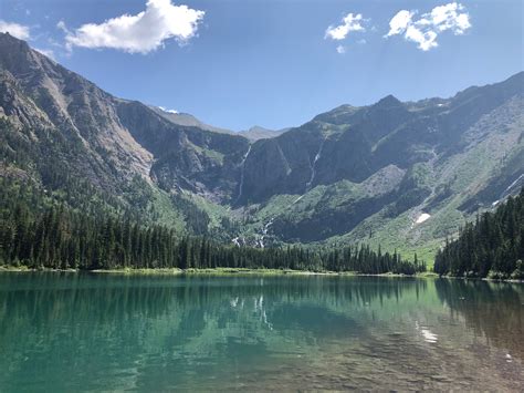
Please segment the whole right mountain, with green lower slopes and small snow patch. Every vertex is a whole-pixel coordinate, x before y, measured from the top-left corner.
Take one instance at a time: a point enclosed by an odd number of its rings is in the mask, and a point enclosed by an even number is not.
[[[254,143],[238,204],[256,206],[255,232],[286,242],[433,251],[479,209],[518,192],[523,86],[521,72],[446,100],[339,106]]]

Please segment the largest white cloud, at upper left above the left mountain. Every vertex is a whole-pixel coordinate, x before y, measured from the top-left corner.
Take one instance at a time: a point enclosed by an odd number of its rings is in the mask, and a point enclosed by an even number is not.
[[[113,48],[128,53],[148,53],[168,39],[186,43],[197,34],[203,11],[187,6],[174,6],[171,0],[148,0],[146,10],[136,15],[123,14],[103,23],[83,24],[74,32],[67,31],[61,21],[56,25],[66,32],[69,49]]]

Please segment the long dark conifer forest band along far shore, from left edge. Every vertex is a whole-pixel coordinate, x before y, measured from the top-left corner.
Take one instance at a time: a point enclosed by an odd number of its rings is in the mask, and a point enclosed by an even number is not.
[[[316,250],[224,246],[165,226],[143,226],[132,217],[102,209],[73,209],[46,199],[45,193],[31,186],[1,177],[0,265],[84,270],[228,267],[406,275],[426,271],[417,256],[411,262],[397,252],[375,252],[364,245]]]

